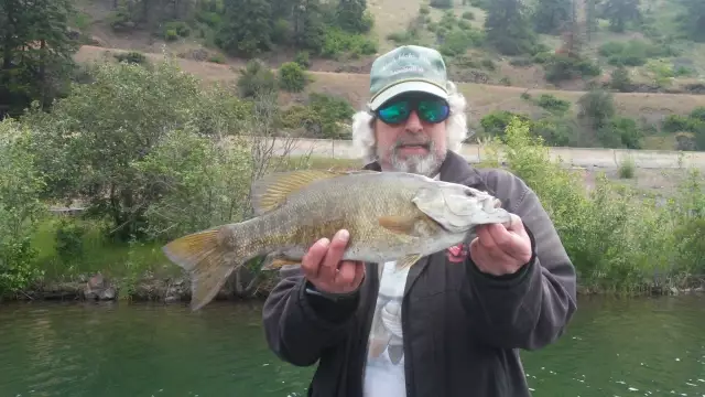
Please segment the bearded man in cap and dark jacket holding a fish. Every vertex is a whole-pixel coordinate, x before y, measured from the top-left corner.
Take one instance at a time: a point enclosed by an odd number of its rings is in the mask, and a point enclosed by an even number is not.
[[[380,56],[370,94],[352,126],[366,169],[489,191],[514,214],[511,227],[478,227],[468,244],[405,269],[340,261],[348,233],[322,236],[264,304],[270,347],[293,365],[318,362],[310,396],[529,396],[519,350],[556,341],[576,309],[575,269],[553,224],[519,178],[455,152],[465,100],[436,51]]]

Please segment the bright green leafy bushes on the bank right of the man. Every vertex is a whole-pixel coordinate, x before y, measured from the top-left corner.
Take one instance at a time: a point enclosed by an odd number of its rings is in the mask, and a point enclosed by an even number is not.
[[[582,175],[552,161],[541,139],[531,137],[528,122],[513,119],[505,137],[503,143],[490,144],[490,162],[498,164],[501,152],[508,170],[540,197],[581,286],[639,292],[703,270],[703,255],[696,251],[702,238],[695,236],[705,214],[705,194],[695,178],[683,187],[686,193],[665,206],[604,176],[586,192]],[[685,242],[676,237],[680,230]]]

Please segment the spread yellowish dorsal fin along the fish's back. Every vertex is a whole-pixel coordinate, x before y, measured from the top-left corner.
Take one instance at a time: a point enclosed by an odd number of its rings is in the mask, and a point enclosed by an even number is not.
[[[262,215],[282,205],[286,197],[303,187],[326,179],[376,171],[299,170],[274,172],[252,183],[252,207]]]

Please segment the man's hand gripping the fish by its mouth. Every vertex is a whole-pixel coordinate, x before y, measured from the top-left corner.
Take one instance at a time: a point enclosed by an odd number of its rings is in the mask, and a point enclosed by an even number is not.
[[[480,225],[470,243],[470,257],[477,268],[492,276],[512,275],[531,259],[531,239],[521,218],[511,214],[508,227]]]

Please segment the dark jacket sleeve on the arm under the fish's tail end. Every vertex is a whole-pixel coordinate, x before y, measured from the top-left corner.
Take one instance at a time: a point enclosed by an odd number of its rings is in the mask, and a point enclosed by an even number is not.
[[[297,366],[315,364],[323,350],[341,341],[355,316],[359,292],[339,300],[306,293],[313,288],[299,267],[282,270],[262,310],[269,347]]]

